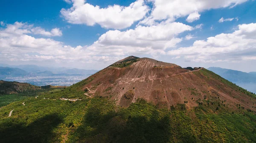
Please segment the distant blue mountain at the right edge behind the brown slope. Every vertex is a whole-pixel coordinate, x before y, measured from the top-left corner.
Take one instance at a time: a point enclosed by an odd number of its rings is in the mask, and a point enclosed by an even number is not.
[[[218,67],[210,67],[208,70],[232,82],[256,83],[255,72],[247,73]]]

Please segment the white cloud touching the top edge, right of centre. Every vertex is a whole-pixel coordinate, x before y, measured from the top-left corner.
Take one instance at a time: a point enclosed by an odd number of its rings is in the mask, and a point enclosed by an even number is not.
[[[141,23],[152,25],[155,20],[169,19],[174,21],[179,17],[202,12],[209,9],[233,8],[248,0],[148,0],[153,2],[154,8],[149,17]],[[192,17],[192,16],[191,16]]]

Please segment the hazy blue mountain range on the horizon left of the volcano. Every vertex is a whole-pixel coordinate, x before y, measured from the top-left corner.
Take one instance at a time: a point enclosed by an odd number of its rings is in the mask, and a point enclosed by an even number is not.
[[[50,68],[36,65],[11,66],[0,64],[0,78],[6,77],[37,77],[37,76],[82,76],[91,75],[97,70]]]

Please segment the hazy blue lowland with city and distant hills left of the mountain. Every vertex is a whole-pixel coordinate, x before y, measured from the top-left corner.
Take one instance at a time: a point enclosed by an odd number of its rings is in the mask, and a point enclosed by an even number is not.
[[[35,86],[71,86],[97,70],[49,68],[36,65],[0,64],[0,80],[30,83]]]

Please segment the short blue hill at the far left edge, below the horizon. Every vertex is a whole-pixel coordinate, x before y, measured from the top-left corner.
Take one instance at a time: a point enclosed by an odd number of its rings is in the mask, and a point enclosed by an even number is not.
[[[0,77],[24,77],[31,75],[29,72],[26,72],[18,68],[9,68],[9,67],[0,67]]]

